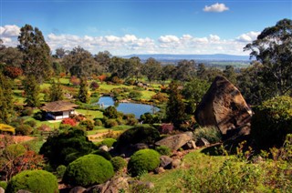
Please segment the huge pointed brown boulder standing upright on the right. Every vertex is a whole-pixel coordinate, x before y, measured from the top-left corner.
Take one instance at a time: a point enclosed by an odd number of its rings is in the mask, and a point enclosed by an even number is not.
[[[240,91],[224,76],[216,76],[195,111],[203,127],[218,127],[225,136],[248,135],[252,110]]]

